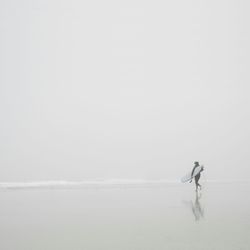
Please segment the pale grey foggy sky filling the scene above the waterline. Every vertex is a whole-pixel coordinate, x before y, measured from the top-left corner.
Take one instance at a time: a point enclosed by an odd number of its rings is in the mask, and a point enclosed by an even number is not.
[[[248,1],[0,2],[0,181],[250,179]]]

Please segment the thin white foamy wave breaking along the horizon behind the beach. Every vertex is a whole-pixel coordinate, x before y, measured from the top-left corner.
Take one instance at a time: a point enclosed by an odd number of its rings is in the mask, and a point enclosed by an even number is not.
[[[129,188],[166,186],[178,181],[169,180],[102,180],[102,181],[38,181],[38,182],[2,182],[0,189],[59,189],[59,188]]]

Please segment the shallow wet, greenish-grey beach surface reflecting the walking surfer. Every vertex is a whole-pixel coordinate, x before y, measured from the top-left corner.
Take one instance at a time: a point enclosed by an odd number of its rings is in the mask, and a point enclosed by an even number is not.
[[[250,183],[0,191],[0,249],[250,249]]]

